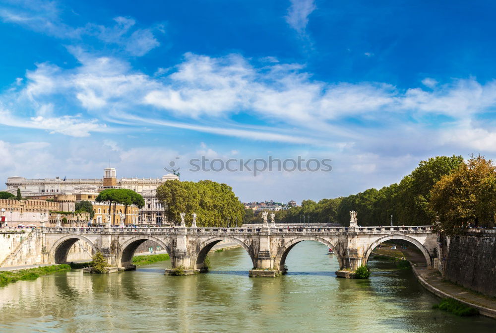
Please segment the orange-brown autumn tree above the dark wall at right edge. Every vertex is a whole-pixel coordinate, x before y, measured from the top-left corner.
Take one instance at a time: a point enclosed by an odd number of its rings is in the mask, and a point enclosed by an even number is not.
[[[430,215],[438,231],[459,234],[470,223],[492,226],[496,211],[496,166],[484,156],[470,158],[442,177],[430,192]]]

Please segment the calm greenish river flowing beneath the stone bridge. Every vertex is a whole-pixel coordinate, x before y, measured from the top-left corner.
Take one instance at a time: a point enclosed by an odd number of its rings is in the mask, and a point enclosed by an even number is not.
[[[369,280],[338,279],[326,252],[298,244],[277,278],[249,278],[238,248],[210,254],[208,274],[165,276],[161,262],[18,281],[0,288],[0,332],[495,332],[492,319],[433,310],[437,299],[391,263],[369,262]]]

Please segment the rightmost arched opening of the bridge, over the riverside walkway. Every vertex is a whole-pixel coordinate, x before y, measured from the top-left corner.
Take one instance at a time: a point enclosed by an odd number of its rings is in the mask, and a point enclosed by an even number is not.
[[[385,248],[381,250],[381,247]],[[385,257],[405,258],[417,266],[432,267],[432,258],[427,248],[413,237],[388,235],[373,242],[365,252],[363,263],[367,264],[372,254]]]

